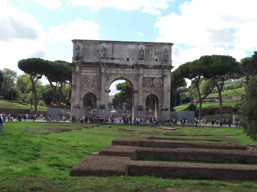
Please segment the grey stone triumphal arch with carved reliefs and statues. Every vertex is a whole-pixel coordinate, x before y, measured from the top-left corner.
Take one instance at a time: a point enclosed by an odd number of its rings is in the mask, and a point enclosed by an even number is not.
[[[82,116],[85,95],[96,97],[96,116],[107,117],[108,93],[116,80],[133,90],[134,117],[144,116],[146,98],[153,95],[158,118],[169,118],[172,43],[74,39],[71,113]]]

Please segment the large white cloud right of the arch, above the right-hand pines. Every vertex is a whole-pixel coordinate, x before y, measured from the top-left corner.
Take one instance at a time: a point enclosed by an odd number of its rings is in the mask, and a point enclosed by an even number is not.
[[[257,49],[256,6],[255,0],[186,1],[180,15],[159,17],[156,41],[175,43],[174,69],[202,55],[231,55],[239,61],[247,56],[246,51]]]

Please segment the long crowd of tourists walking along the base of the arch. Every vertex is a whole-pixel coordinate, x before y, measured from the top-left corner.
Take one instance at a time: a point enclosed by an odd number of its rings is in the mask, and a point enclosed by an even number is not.
[[[14,120],[13,114],[12,113],[0,113],[1,119],[3,123],[5,122],[12,122]],[[88,116],[88,115],[82,115],[79,119],[77,116],[72,115],[71,122],[76,123],[90,123],[90,124],[123,124],[123,125],[139,125],[142,124],[144,125],[146,121],[149,119],[150,124],[155,124],[159,125],[161,123],[162,125],[164,124],[164,119],[161,119],[161,122],[159,122],[159,118],[156,118],[154,116],[147,116],[145,115],[142,119],[139,117],[136,117],[134,120],[132,120],[132,115],[120,115],[119,117],[115,115],[110,115],[108,117],[95,117],[95,116]],[[43,122],[43,120],[46,120],[46,122],[51,122],[51,114],[40,114],[39,116],[37,114],[25,114],[25,113],[19,113],[16,115],[16,120],[17,121],[35,121],[39,120]],[[70,121],[67,115],[67,120]],[[56,122],[66,122],[66,116],[58,114],[57,119],[54,119]],[[208,118],[203,118],[202,120],[198,118],[191,118],[190,121],[188,121],[186,118],[182,118],[180,121],[177,118],[173,118],[171,116],[170,119],[168,119],[168,125],[181,125],[181,126],[206,126],[208,125],[209,119]],[[222,120],[216,120],[213,119],[211,121],[212,126],[229,126],[231,127],[231,120],[223,118]],[[235,122],[235,126],[238,127],[240,124],[239,121]]]

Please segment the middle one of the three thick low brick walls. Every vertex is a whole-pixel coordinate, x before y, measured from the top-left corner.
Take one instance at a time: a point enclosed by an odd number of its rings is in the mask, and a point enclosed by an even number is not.
[[[136,157],[147,159],[170,159],[178,161],[209,161],[209,162],[231,162],[257,164],[257,151],[242,150],[217,150],[197,148],[145,148],[133,146],[106,146],[102,148],[99,155]]]

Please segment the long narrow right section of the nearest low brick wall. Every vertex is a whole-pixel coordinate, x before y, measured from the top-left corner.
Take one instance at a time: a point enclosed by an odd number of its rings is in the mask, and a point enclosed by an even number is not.
[[[197,175],[200,179],[257,179],[257,167],[251,165],[131,161],[129,175],[165,178]]]

